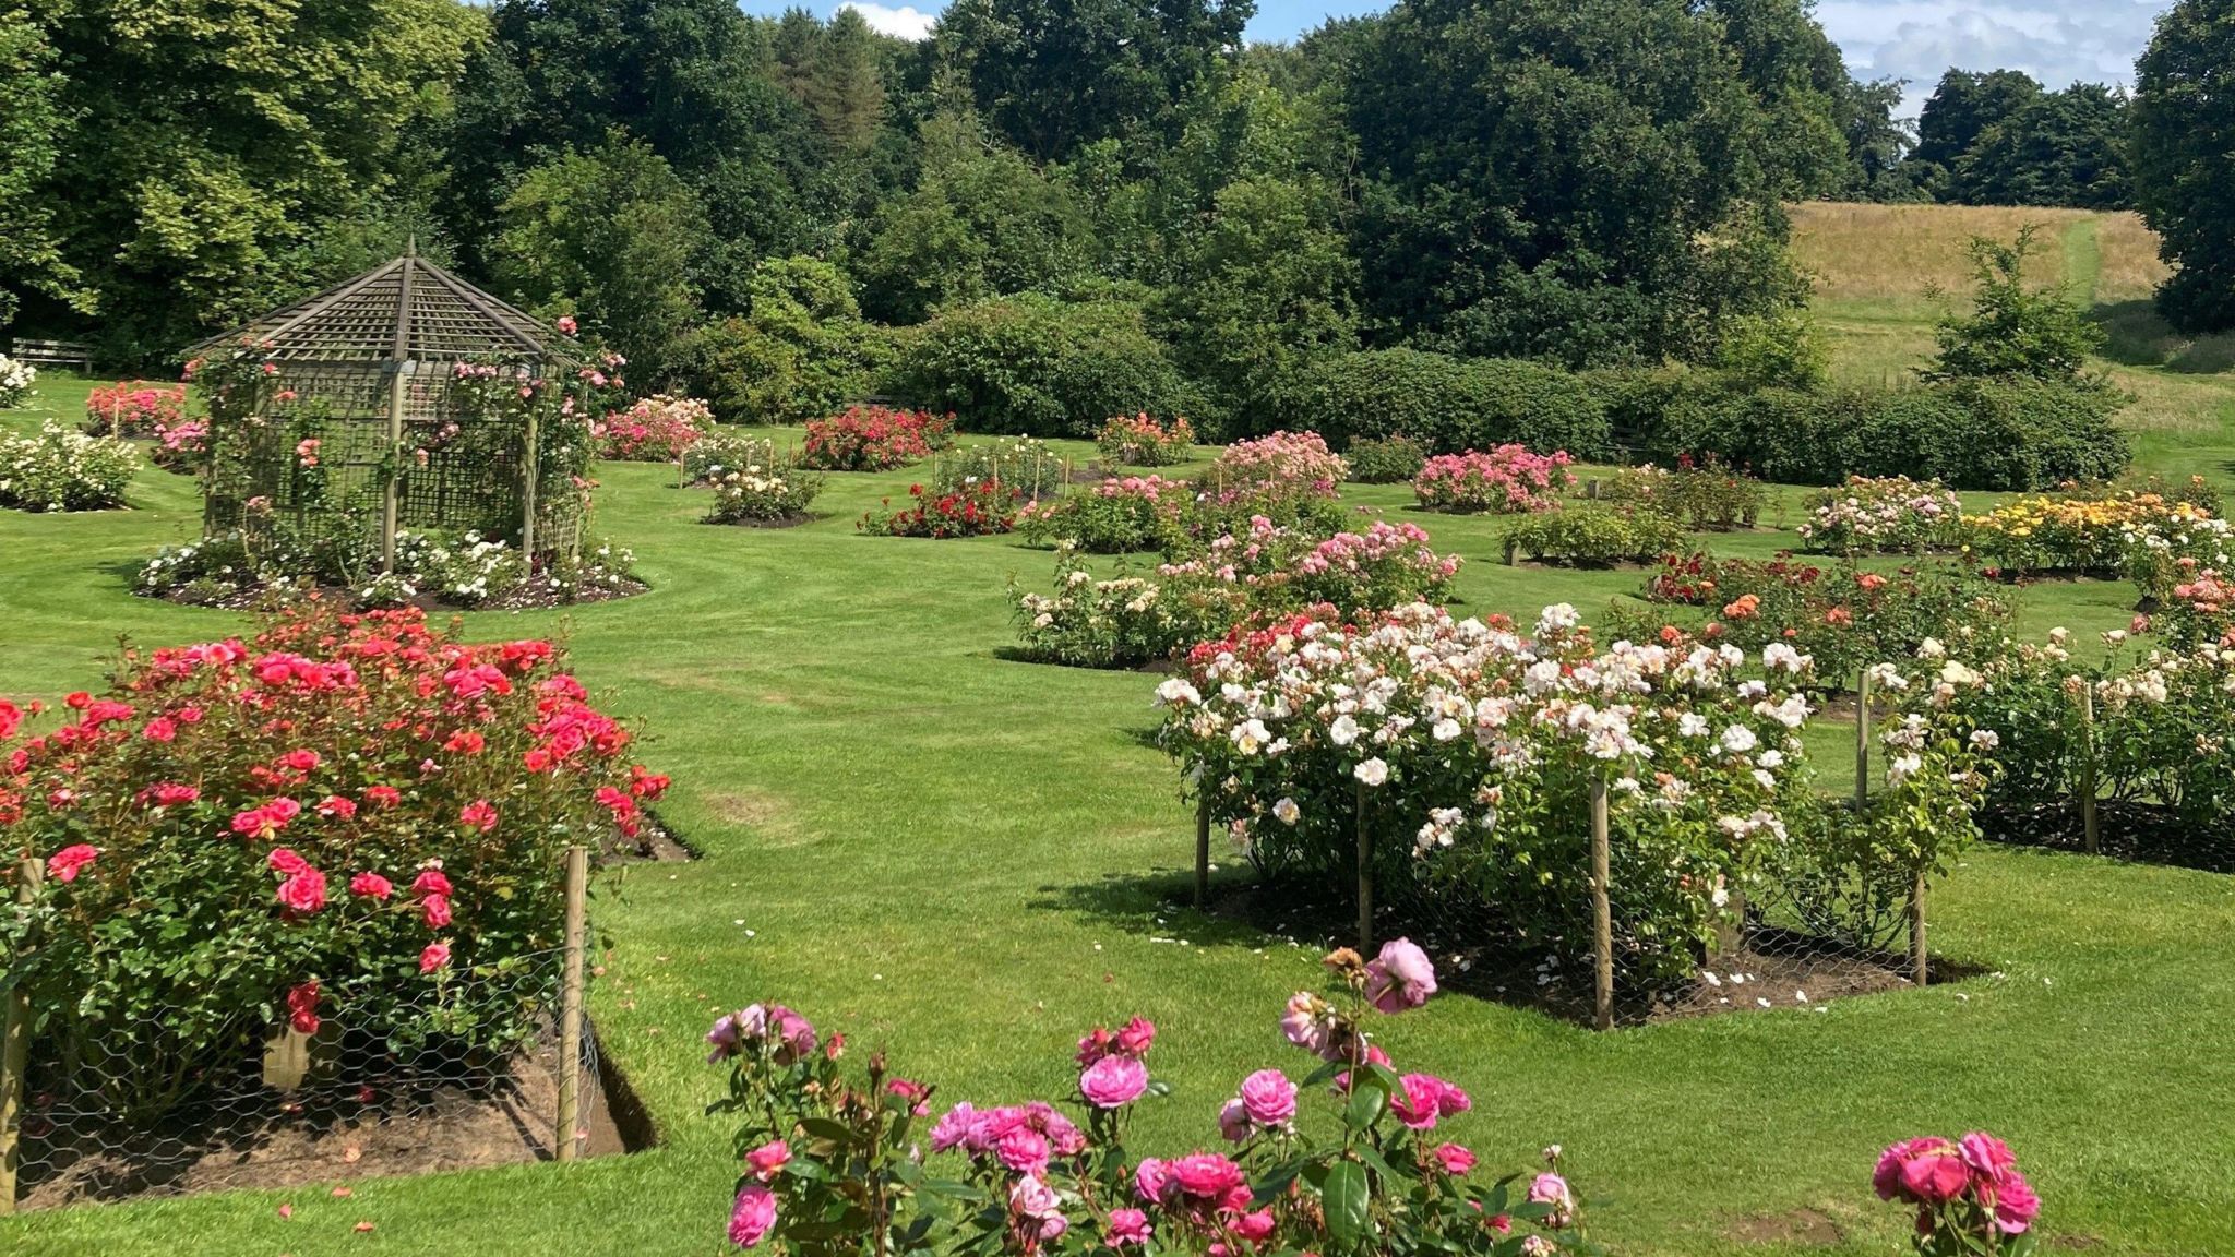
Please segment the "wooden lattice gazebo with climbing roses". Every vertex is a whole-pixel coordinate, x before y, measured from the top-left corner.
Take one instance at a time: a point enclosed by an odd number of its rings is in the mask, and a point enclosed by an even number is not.
[[[322,544],[335,530],[362,537],[378,519],[384,568],[398,528],[478,530],[530,559],[579,548],[577,494],[539,494],[554,470],[539,467],[550,434],[532,416],[525,429],[498,425],[456,400],[460,365],[565,380],[579,362],[545,324],[407,248],[192,353],[244,344],[268,362],[266,387],[255,414],[226,420],[237,432],[217,432],[212,407],[212,459],[230,450],[232,474],[208,479],[206,532],[286,519]],[[311,467],[304,434],[317,441]]]

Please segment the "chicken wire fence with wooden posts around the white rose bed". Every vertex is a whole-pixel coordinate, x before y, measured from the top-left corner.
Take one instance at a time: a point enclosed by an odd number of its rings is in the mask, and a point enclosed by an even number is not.
[[[1857,731],[1857,790],[1868,805],[1868,738]],[[1341,868],[1267,872],[1252,915],[1281,935],[1316,935],[1370,955],[1410,937],[1439,966],[1439,982],[1509,1004],[1614,1029],[1658,1020],[1759,1009],[1822,1009],[1826,1002],[1931,980],[1927,886],[1871,845],[1848,807],[1819,810],[1768,845],[1752,877],[1719,883],[1699,933],[1672,930],[1663,899],[1690,895],[1667,852],[1627,841],[1609,823],[1605,790],[1578,810],[1556,843],[1567,868],[1542,870],[1529,919],[1518,928],[1495,897],[1451,895],[1390,841],[1359,798],[1354,859]],[[1401,828],[1401,825],[1399,825]],[[1220,832],[1196,814],[1196,904],[1211,899]],[[1672,886],[1674,883],[1674,886]],[[1681,922],[1678,922],[1681,924]]]

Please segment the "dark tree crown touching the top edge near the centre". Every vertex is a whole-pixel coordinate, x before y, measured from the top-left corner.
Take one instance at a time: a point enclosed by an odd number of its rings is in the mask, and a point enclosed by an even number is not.
[[[1171,110],[1223,72],[1254,0],[957,0],[941,51],[977,110],[1035,161],[1097,139],[1169,132]]]

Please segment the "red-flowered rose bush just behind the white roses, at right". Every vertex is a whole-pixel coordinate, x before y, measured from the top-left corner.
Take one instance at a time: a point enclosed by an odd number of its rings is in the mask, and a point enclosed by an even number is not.
[[[1788,642],[1817,662],[1828,682],[1860,669],[1906,660],[1929,642],[2000,633],[2009,606],[1953,564],[1868,573],[1853,564],[1667,557],[1643,597],[1705,606],[1714,633],[1743,651]]]

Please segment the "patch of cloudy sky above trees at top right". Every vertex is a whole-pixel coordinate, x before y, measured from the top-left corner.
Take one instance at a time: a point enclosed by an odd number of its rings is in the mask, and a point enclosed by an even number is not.
[[[1855,74],[1906,78],[1913,114],[1947,69],[2023,69],[2047,87],[2132,83],[2170,0],[1824,0]]]

